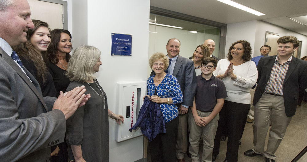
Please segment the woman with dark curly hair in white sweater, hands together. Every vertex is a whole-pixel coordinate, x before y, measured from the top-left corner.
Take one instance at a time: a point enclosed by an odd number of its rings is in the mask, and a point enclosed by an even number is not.
[[[220,111],[212,161],[219,154],[220,136],[224,126],[226,126],[228,135],[224,162],[238,161],[239,140],[242,137],[247,113],[251,107],[250,90],[258,77],[256,64],[250,61],[251,58],[251,44],[246,40],[239,40],[231,44],[227,58],[221,59],[217,63],[216,71],[213,72],[224,82],[228,97],[225,98]]]

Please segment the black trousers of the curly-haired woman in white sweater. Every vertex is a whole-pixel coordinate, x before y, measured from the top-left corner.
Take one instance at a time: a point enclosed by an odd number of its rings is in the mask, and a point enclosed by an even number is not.
[[[228,135],[226,160],[228,162],[238,161],[239,139],[242,138],[250,107],[251,104],[240,104],[227,100],[224,101],[224,106],[222,108],[223,111],[221,110],[222,113],[220,112],[219,125],[214,140],[213,155],[217,155],[220,152],[220,136],[223,131],[223,126],[226,126]],[[224,118],[224,124],[220,124],[221,114],[223,114],[222,117]]]

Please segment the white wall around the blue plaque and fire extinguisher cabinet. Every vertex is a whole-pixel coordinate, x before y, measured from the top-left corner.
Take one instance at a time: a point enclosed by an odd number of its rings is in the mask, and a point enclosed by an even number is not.
[[[83,0],[72,1],[72,13],[85,9]],[[78,7],[79,6],[79,7]],[[76,7],[76,8],[75,8]],[[95,46],[101,51],[100,71],[96,73],[97,79],[107,93],[108,106],[115,111],[116,82],[147,80],[148,66],[148,31],[149,31],[150,0],[134,1],[87,1],[87,22],[82,17],[72,14],[73,39]],[[82,26],[87,24],[87,29]],[[111,32],[132,34],[132,56],[111,57]],[[125,121],[128,122],[128,121]],[[115,141],[115,121],[109,119],[109,155],[110,162],[132,162],[142,159],[143,137],[133,138],[123,142]]]

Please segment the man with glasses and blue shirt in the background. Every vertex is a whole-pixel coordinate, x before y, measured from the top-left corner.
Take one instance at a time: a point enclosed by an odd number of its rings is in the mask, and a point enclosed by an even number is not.
[[[268,46],[268,45],[264,45],[260,48],[260,53],[261,55],[260,56],[257,56],[257,57],[253,57],[251,59],[251,61],[255,62],[256,63],[256,66],[258,66],[258,62],[260,60],[260,58],[262,57],[267,57],[269,56],[269,53],[271,52],[271,47]],[[256,88],[256,85],[254,85],[252,88],[251,88],[251,109],[250,111],[248,112],[247,114],[247,120],[246,122],[248,123],[252,123],[254,121],[254,106],[253,106],[253,99],[254,99],[254,94],[255,94],[255,88]]]

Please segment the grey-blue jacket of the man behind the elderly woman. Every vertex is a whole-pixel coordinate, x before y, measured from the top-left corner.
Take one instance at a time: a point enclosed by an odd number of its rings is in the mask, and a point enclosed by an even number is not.
[[[155,75],[154,71],[150,75]],[[193,61],[178,55],[172,75],[177,78],[183,94],[183,102],[181,104],[193,106],[197,88]]]

